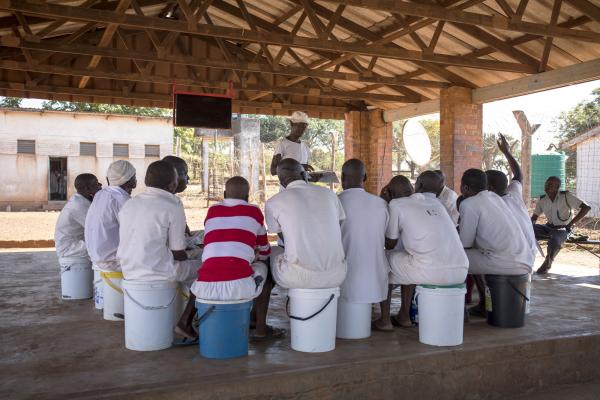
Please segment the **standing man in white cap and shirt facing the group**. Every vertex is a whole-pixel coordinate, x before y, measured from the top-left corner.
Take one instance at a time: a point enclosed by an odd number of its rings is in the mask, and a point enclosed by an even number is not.
[[[277,166],[286,158],[298,161],[305,171],[314,171],[308,164],[310,161],[310,149],[305,142],[300,140],[308,127],[308,115],[302,111],[294,111],[290,120],[290,134],[281,139],[275,148],[275,154],[271,160],[271,175],[277,175]]]

